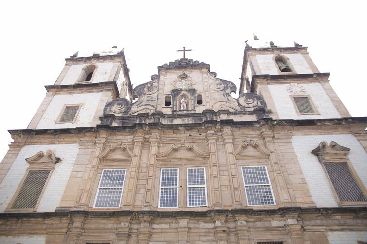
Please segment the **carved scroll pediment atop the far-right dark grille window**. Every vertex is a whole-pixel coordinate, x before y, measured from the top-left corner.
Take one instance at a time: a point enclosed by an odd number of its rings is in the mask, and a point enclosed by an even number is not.
[[[320,142],[319,145],[311,151],[321,163],[334,163],[334,162],[344,162],[348,160],[347,155],[350,149],[336,142]]]

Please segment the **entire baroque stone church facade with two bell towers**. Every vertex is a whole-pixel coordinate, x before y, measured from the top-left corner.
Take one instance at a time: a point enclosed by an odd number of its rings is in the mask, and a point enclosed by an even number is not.
[[[134,89],[116,47],[67,58],[9,130],[0,243],[366,243],[367,118],[270,44],[246,43],[238,98],[184,55]]]

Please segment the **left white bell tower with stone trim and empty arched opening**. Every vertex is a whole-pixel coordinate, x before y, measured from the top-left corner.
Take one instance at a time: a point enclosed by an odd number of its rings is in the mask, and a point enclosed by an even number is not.
[[[132,98],[132,85],[124,51],[111,49],[65,59],[54,85],[47,85],[46,98],[28,129],[95,126],[105,104],[116,98]]]

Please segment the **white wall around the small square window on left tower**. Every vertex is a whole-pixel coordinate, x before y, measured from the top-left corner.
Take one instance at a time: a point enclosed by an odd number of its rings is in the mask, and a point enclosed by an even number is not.
[[[42,118],[39,120],[36,129],[54,128],[75,128],[94,126],[93,117],[96,113],[98,103],[102,93],[79,93],[79,94],[60,94],[55,95],[47,107]],[[82,108],[77,115],[75,123],[55,124],[64,105],[82,104]],[[102,115],[102,111],[99,111]],[[99,122],[99,121],[98,121]]]

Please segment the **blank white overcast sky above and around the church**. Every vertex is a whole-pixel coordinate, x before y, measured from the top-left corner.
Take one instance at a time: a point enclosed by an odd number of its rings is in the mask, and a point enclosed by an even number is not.
[[[125,48],[134,87],[157,66],[188,58],[210,64],[217,77],[239,77],[245,40],[308,51],[352,116],[367,116],[367,34],[364,1],[1,1],[0,158],[7,129],[25,129],[76,51]]]

